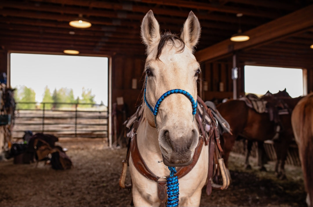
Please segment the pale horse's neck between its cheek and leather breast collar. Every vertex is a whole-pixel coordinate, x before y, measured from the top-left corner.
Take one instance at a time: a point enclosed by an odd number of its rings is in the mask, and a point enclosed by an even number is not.
[[[137,145],[141,157],[147,167],[156,176],[168,176],[169,171],[163,164],[163,158],[158,141],[158,132],[156,128],[149,125],[146,119],[139,124],[137,131]]]

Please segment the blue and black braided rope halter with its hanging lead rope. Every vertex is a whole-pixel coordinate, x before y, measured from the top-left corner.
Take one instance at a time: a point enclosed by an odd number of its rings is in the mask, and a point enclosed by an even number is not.
[[[191,102],[192,105],[192,121],[195,118],[195,114],[197,112],[197,105],[198,102],[196,102],[192,95],[189,94],[187,91],[182,90],[182,89],[172,89],[169,90],[167,92],[165,92],[156,102],[156,105],[154,107],[154,109],[152,108],[152,106],[148,103],[147,99],[146,99],[146,88],[147,88],[147,79],[148,77],[146,77],[146,83],[145,83],[145,90],[144,90],[144,99],[145,102],[148,106],[148,108],[150,109],[150,111],[153,113],[154,115],[154,123],[156,125],[157,128],[157,124],[156,124],[156,115],[159,109],[159,106],[161,104],[161,102],[168,96],[171,94],[184,94]],[[167,207],[176,207],[178,206],[178,195],[179,195],[179,183],[178,183],[178,178],[177,176],[174,176],[174,174],[176,173],[176,168],[175,167],[169,167],[167,166],[168,169],[170,170],[170,176],[167,177]]]

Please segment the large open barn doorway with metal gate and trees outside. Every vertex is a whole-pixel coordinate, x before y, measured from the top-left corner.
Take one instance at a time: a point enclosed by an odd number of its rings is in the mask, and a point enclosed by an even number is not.
[[[16,88],[13,137],[109,136],[109,58],[10,53],[8,82]],[[31,118],[30,118],[31,117]]]

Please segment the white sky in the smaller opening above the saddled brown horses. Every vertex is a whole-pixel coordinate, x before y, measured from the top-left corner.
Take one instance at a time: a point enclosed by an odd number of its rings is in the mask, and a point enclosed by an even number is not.
[[[293,98],[303,95],[302,70],[263,66],[244,66],[244,88],[246,93],[275,94],[286,88]]]

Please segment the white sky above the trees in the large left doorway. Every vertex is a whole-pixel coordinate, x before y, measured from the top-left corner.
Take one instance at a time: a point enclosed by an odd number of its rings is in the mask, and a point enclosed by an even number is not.
[[[41,102],[44,88],[73,89],[75,99],[82,88],[91,89],[96,103],[108,105],[108,58],[70,55],[11,53],[11,87],[25,85]]]

